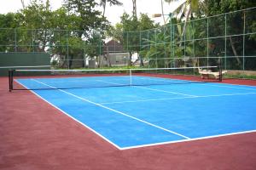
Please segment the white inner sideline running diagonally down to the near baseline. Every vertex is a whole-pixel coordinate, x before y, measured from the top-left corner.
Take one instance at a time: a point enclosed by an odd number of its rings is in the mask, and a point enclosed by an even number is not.
[[[53,86],[50,86],[50,85],[48,85],[48,84],[45,84],[44,82],[39,82],[38,80],[33,80],[33,81],[38,82],[38,83],[41,83],[41,84],[44,84],[45,86],[48,86],[49,88],[55,88],[55,87],[53,87]],[[145,124],[148,124],[149,126],[159,128],[159,129],[164,130],[164,131],[166,131],[166,132],[168,132],[168,133],[176,134],[177,136],[183,137],[184,139],[190,139],[189,137],[184,136],[183,134],[176,133],[176,132],[174,132],[174,131],[172,131],[172,130],[168,130],[168,129],[164,128],[164,127],[160,127],[160,126],[154,125],[153,123],[143,121],[142,119],[139,119],[139,118],[137,118],[137,117],[135,117],[135,116],[130,116],[130,115],[128,115],[128,114],[125,114],[124,112],[113,110],[113,109],[111,109],[111,108],[109,108],[109,107],[107,107],[107,106],[105,106],[105,105],[97,104],[97,103],[95,103],[95,102],[93,102],[93,101],[90,101],[89,99],[81,98],[81,97],[79,97],[78,95],[71,94],[71,93],[69,93],[69,92],[67,92],[67,91],[65,91],[65,90],[61,90],[61,89],[57,89],[57,88],[55,88],[55,89],[56,89],[56,90],[59,90],[59,91],[61,91],[61,92],[63,92],[63,93],[65,93],[65,94],[69,94],[69,95],[71,95],[71,96],[73,96],[73,97],[75,97],[75,98],[84,100],[84,101],[86,101],[86,102],[88,102],[88,103],[90,103],[90,104],[97,105],[97,106],[102,107],[102,108],[104,108],[104,109],[107,109],[107,110],[109,110],[109,111],[113,111],[113,112],[115,112],[115,113],[119,113],[120,115],[130,117],[131,119],[137,120],[138,122],[143,122],[143,123],[145,123]]]

